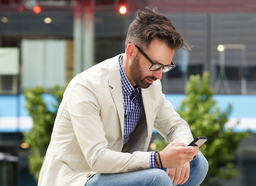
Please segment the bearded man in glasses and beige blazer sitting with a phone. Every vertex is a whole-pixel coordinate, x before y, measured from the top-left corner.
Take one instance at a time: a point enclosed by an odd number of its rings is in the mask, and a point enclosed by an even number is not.
[[[39,186],[196,186],[204,180],[207,160],[197,146],[187,146],[189,126],[165,100],[160,82],[175,67],[174,51],[189,46],[168,18],[147,7],[137,11],[125,46],[124,54],[67,86]],[[163,151],[146,152],[153,128],[171,142]]]

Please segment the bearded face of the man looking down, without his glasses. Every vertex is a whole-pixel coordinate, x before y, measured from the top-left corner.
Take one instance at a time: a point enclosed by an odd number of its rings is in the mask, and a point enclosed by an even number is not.
[[[174,50],[168,48],[164,42],[154,40],[148,49],[144,51],[154,62],[162,65],[170,65]],[[150,71],[151,63],[138,51],[129,66],[130,77],[137,86],[148,88],[155,80],[162,79],[162,69]]]

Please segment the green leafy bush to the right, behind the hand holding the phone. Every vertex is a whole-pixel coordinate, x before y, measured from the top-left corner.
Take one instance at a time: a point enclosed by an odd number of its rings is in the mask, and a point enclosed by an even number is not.
[[[206,144],[200,148],[209,162],[209,177],[232,179],[238,171],[231,163],[234,153],[241,140],[248,132],[235,133],[231,128],[225,128],[231,114],[232,106],[221,111],[213,99],[214,90],[209,84],[209,73],[191,75],[186,84],[185,97],[177,112],[189,123],[194,137],[206,136]],[[207,180],[207,179],[206,179]]]

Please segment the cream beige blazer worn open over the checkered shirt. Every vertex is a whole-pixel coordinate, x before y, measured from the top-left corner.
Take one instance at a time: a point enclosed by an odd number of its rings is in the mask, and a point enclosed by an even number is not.
[[[188,124],[165,100],[157,80],[141,89],[144,112],[121,153],[124,106],[119,56],[76,75],[67,86],[38,186],[84,186],[95,173],[150,168],[146,151],[153,127],[169,142],[193,140]]]

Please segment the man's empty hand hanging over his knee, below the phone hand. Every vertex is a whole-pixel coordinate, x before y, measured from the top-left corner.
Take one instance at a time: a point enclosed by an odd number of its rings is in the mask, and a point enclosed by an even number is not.
[[[189,179],[190,164],[186,162],[177,168],[167,168],[166,173],[173,181],[174,185],[184,184]]]

